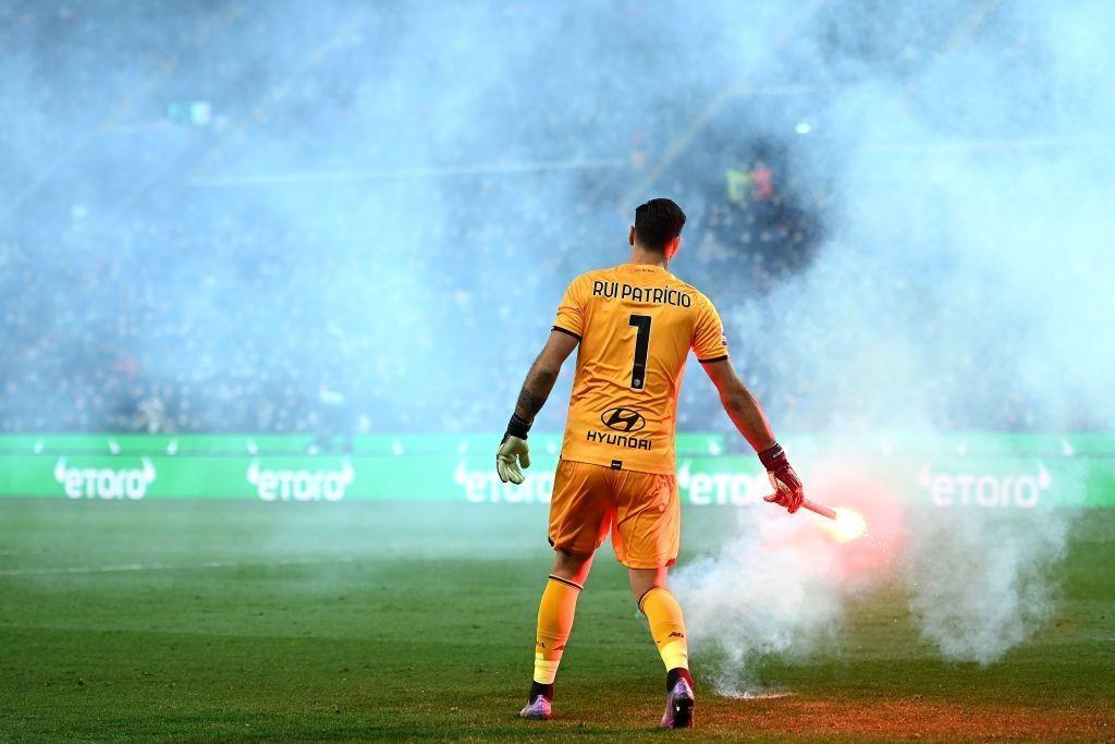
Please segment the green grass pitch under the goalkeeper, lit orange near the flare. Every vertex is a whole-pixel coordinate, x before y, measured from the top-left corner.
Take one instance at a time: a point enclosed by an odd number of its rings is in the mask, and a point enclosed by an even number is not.
[[[683,558],[725,535],[726,511],[686,513]],[[558,717],[515,717],[544,514],[0,502],[0,740],[1115,737],[1113,512],[1077,520],[1054,621],[1000,664],[940,660],[881,587],[851,606],[837,647],[760,664],[791,696],[718,697],[697,650],[698,729],[675,733],[655,728],[661,665],[607,553]]]

